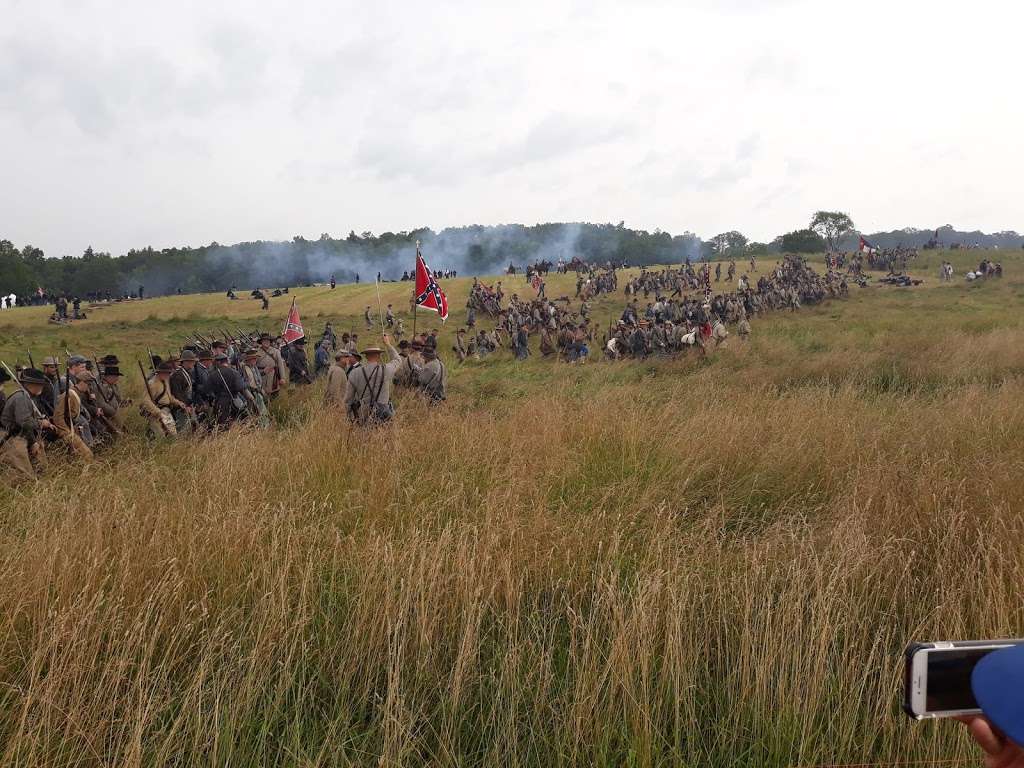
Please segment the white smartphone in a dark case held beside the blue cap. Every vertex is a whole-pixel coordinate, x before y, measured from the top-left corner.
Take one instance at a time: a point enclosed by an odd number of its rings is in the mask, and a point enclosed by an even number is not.
[[[903,710],[915,720],[979,715],[971,673],[986,654],[1017,640],[956,640],[914,643],[906,649]]]

